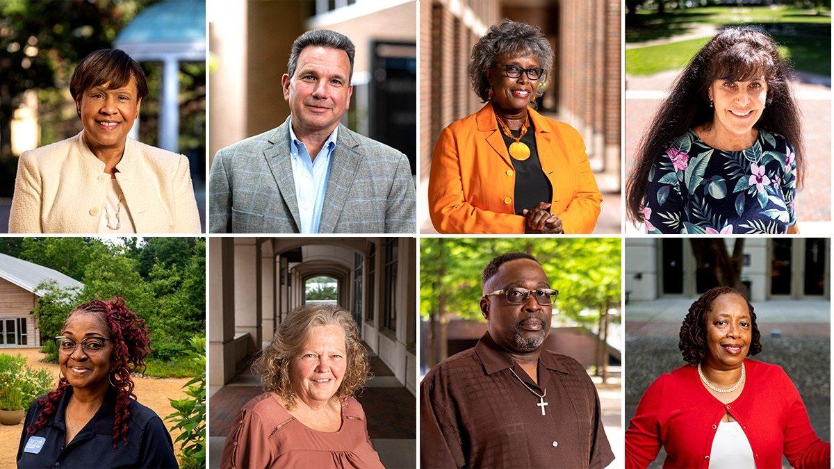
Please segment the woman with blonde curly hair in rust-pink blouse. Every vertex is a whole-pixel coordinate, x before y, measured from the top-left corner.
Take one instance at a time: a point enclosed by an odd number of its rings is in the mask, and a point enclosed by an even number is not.
[[[297,308],[252,368],[264,394],[240,410],[222,467],[382,467],[354,399],[369,365],[347,311]]]

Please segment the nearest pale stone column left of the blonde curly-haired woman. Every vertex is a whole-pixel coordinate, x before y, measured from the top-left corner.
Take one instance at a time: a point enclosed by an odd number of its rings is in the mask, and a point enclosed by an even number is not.
[[[260,246],[254,238],[234,239],[234,329],[247,333],[249,351],[260,350],[261,269]]]

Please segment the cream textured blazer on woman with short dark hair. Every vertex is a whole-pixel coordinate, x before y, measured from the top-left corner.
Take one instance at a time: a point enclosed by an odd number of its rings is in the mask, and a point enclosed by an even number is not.
[[[82,135],[20,155],[9,233],[98,232],[110,176]],[[200,233],[183,155],[128,138],[116,169],[138,234]]]

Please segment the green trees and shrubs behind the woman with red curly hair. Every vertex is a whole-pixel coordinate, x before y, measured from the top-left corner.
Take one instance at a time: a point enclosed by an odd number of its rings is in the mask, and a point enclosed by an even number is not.
[[[205,330],[205,241],[201,238],[4,238],[0,252],[68,275],[82,290],[43,285],[35,314],[44,344],[58,335],[70,310],[90,300],[124,298],[151,331],[151,357],[187,355]],[[51,345],[45,347],[47,352]],[[176,373],[174,373],[176,374]],[[193,376],[191,374],[190,376]]]

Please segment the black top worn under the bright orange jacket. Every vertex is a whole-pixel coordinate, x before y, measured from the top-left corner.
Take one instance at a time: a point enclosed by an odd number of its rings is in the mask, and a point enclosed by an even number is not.
[[[497,118],[496,118],[497,119]],[[510,144],[515,140],[507,137],[501,130],[501,124],[498,124],[498,131],[501,137],[504,138],[504,144],[507,145],[507,151],[510,151]],[[521,130],[510,130],[510,132],[518,137]],[[541,169],[539,161],[539,152],[535,148],[535,127],[533,121],[530,121],[530,128],[527,133],[521,138],[521,143],[530,147],[530,158],[520,161],[512,158],[513,168],[515,169],[515,214],[520,215],[524,209],[532,209],[539,202],[550,203],[553,200],[553,189],[550,187],[550,179],[547,179],[545,172]]]

